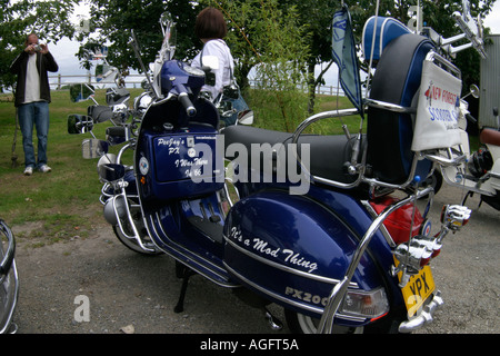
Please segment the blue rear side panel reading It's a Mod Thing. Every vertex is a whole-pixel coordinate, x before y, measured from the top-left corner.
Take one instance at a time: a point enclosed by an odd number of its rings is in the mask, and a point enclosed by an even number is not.
[[[224,238],[224,264],[236,279],[312,317],[321,316],[359,244],[332,210],[284,191],[263,191],[238,201],[226,221]],[[350,288],[371,290],[381,285],[371,258],[363,256]]]

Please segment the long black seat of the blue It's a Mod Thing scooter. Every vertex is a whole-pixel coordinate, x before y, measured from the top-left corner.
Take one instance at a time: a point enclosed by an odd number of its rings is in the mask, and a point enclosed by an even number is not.
[[[228,156],[228,147],[232,144],[241,144],[247,148],[248,158],[250,160],[252,144],[262,146],[269,144],[271,147],[282,144],[284,149],[279,154],[291,155],[289,145],[292,144],[292,134],[266,130],[251,126],[229,126],[222,131],[224,135],[224,152],[226,159],[236,159],[236,155]],[[303,145],[309,145],[310,162],[309,170],[313,176],[349,184],[356,180],[357,176],[347,172],[346,162],[351,160],[352,141],[348,140],[344,135],[320,136],[320,135],[301,135],[298,140],[298,151],[302,157]],[[280,157],[282,159],[282,157]],[[251,162],[249,162],[251,164]],[[262,167],[259,165],[258,167]],[[254,165],[252,165],[254,167]],[[299,171],[298,169],[296,171]]]

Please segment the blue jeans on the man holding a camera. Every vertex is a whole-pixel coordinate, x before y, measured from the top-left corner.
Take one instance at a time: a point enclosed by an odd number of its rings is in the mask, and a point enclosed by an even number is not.
[[[47,138],[49,136],[49,103],[37,101],[23,103],[18,108],[19,127],[24,149],[24,166],[38,168],[47,165]],[[33,127],[37,129],[38,160],[34,158]]]

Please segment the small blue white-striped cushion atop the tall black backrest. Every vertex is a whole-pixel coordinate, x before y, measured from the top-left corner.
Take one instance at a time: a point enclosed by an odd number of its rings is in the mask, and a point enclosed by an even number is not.
[[[378,61],[386,46],[393,39],[406,33],[411,33],[411,31],[400,21],[393,18],[372,16],[364,23],[361,39],[361,47],[366,60],[368,61],[373,56],[372,59]],[[373,34],[376,37],[374,42]]]

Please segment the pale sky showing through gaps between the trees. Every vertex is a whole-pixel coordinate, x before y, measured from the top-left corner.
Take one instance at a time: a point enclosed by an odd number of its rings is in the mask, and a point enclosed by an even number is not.
[[[74,12],[74,19],[78,16],[87,16],[87,10],[84,7],[80,7]],[[493,4],[493,9],[490,14],[484,19],[484,27],[489,27],[491,29],[491,33],[500,34],[500,1],[496,1]],[[59,72],[61,76],[68,75],[86,75],[87,70],[80,68],[80,63],[74,53],[78,52],[80,44],[77,41],[70,41],[64,38],[60,40],[57,44],[49,43],[49,50],[54,56],[58,65]],[[326,76],[326,85],[327,86],[337,86],[337,66],[332,66],[329,72]]]

